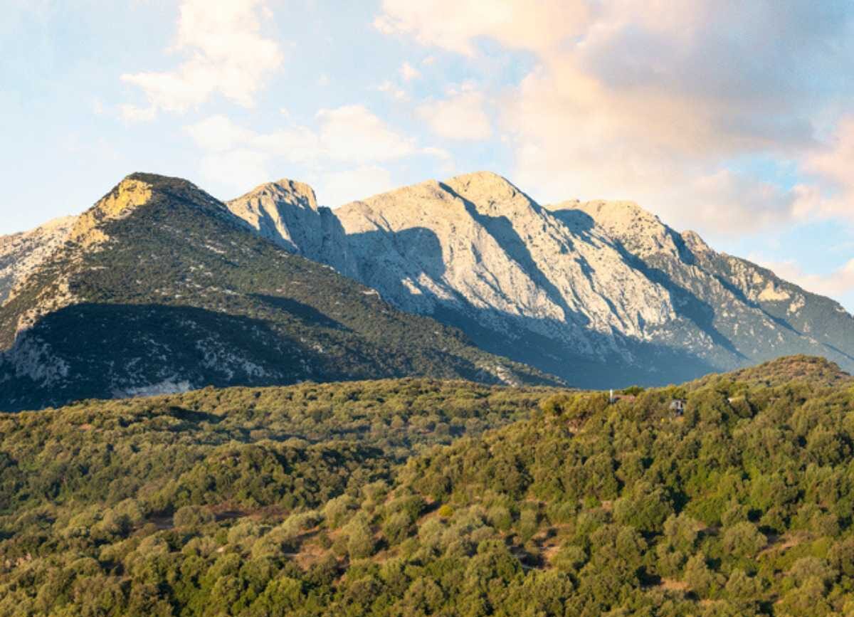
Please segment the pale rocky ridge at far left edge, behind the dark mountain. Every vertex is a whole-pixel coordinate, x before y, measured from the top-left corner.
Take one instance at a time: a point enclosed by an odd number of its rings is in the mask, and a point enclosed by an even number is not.
[[[0,236],[0,305],[22,279],[68,239],[77,217],[51,220],[30,232]]]

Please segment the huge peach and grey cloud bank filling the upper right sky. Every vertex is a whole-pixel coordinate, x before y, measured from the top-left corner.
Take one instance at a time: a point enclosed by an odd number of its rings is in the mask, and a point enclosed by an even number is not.
[[[533,57],[489,100],[513,178],[535,197],[629,198],[742,233],[854,216],[854,129],[816,137],[854,94],[841,78],[854,70],[852,16],[834,0],[384,0],[375,25],[465,56],[487,38]],[[797,177],[744,172],[751,157]]]

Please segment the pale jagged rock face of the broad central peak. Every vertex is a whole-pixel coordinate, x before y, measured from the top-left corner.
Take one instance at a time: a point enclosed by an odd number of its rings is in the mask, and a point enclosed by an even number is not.
[[[664,288],[491,173],[427,182],[336,210],[360,279],[405,310],[448,309],[506,337],[528,330],[585,354],[672,317]],[[584,332],[598,336],[586,337]]]

